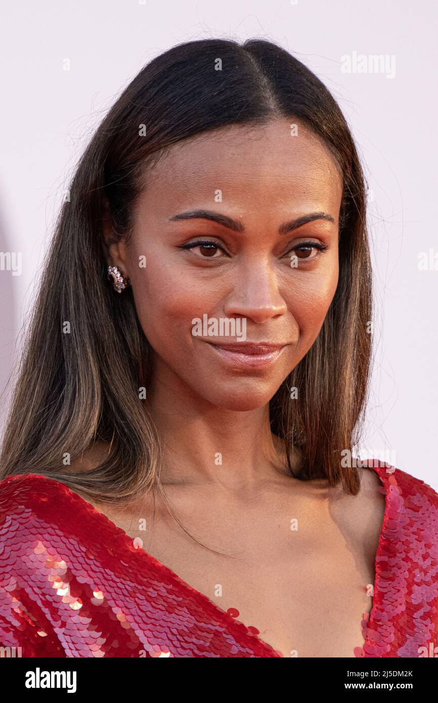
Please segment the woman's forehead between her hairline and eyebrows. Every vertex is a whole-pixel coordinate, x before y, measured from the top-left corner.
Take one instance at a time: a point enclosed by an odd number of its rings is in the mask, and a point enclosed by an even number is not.
[[[169,209],[214,202],[228,205],[328,209],[337,217],[342,179],[321,138],[291,120],[233,125],[186,139],[167,150],[146,179],[139,205]]]

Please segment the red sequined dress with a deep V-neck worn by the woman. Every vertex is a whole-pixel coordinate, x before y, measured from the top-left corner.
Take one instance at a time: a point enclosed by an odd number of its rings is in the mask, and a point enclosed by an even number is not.
[[[373,607],[352,656],[436,657],[438,494],[394,467],[373,470],[386,508]],[[22,657],[283,656],[236,614],[64,484],[37,474],[0,482],[1,647]]]

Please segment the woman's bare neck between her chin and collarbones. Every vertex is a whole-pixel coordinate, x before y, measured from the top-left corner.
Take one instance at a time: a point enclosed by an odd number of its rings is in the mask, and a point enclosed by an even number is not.
[[[148,408],[162,444],[162,484],[217,484],[239,492],[289,475],[283,442],[271,432],[269,404],[220,408],[173,374],[157,374]]]

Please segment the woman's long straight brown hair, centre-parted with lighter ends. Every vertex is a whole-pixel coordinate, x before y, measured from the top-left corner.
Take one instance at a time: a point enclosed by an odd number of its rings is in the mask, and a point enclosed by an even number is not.
[[[342,112],[297,58],[262,39],[189,41],[146,65],[91,138],[63,203],[41,273],[0,455],[0,477],[38,473],[90,501],[126,502],[158,487],[161,449],[147,392],[151,348],[131,288],[106,277],[105,202],[117,236],[131,231],[148,168],[167,148],[233,124],[301,120],[323,139],[343,181],[340,277],[316,341],[270,401],[273,434],[295,477],[359,491],[359,472],[341,452],[359,439],[371,361],[371,264],[366,189]],[[298,389],[297,399],[290,388]],[[96,440],[108,459],[89,471],[65,465]]]

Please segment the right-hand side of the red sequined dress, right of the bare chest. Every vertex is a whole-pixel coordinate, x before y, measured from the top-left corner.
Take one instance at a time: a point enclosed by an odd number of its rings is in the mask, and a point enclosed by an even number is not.
[[[423,657],[438,645],[438,494],[385,463],[373,470],[382,481],[386,508],[373,607],[361,623],[365,643],[354,654]]]

